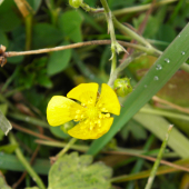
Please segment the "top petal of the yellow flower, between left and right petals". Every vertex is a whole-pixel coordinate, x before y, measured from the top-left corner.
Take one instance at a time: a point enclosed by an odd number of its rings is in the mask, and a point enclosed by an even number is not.
[[[81,83],[67,93],[68,98],[76,99],[84,105],[96,105],[98,83]]]

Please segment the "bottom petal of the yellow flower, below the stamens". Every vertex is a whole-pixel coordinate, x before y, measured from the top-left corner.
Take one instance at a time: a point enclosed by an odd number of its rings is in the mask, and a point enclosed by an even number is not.
[[[77,139],[82,139],[82,140],[98,139],[99,137],[103,136],[106,132],[109,131],[113,122],[113,118],[106,118],[106,119],[101,119],[100,121],[101,121],[101,126],[99,127],[98,125],[96,125],[91,130],[90,130],[90,121],[88,121],[87,123],[86,121],[82,121],[77,126],[74,126],[72,129],[70,129],[68,133],[71,137],[74,137]]]

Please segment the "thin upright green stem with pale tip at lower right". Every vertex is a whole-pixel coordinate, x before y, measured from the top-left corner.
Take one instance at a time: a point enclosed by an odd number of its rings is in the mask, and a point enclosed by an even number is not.
[[[156,177],[156,172],[157,172],[158,167],[159,167],[159,163],[160,163],[160,161],[161,161],[161,158],[162,158],[163,151],[165,151],[165,149],[166,149],[166,146],[167,146],[167,142],[168,142],[168,139],[169,139],[169,136],[170,136],[170,131],[171,131],[171,130],[172,130],[172,126],[169,126],[168,132],[167,132],[167,135],[166,135],[166,138],[165,138],[162,145],[161,145],[160,151],[159,151],[159,153],[158,153],[157,160],[155,161],[155,165],[153,165],[153,167],[152,167],[152,170],[151,170],[151,172],[150,172],[150,177],[148,178],[148,182],[147,182],[145,189],[150,189],[151,186],[152,186],[152,182],[153,182],[155,177]]]

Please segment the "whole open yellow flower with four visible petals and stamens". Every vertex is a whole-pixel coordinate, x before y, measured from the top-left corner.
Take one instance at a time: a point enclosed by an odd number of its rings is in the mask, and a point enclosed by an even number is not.
[[[98,139],[111,127],[113,118],[119,116],[120,103],[115,91],[102,83],[98,96],[98,83],[81,83],[67,93],[67,97],[54,96],[47,108],[50,126],[60,126],[70,120],[79,122],[68,133],[78,139]],[[80,103],[70,100],[74,99]]]

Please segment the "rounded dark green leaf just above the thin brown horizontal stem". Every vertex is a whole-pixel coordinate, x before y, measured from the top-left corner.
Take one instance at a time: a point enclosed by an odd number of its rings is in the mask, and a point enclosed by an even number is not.
[[[67,11],[59,18],[59,28],[66,37],[69,37],[73,42],[82,41],[81,23],[82,17],[76,11]]]

